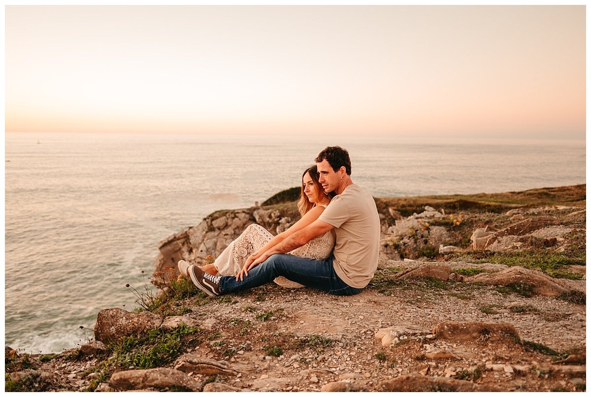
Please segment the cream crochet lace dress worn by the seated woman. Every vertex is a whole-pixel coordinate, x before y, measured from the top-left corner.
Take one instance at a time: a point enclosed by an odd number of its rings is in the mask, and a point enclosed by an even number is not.
[[[242,270],[246,259],[267,244],[273,235],[267,229],[259,224],[251,224],[236,240],[223,250],[217,257],[213,265],[216,266],[219,276],[235,276]],[[335,235],[332,230],[324,233],[322,236],[310,240],[301,247],[289,252],[291,255],[300,256],[300,258],[326,259],[335,248]],[[303,285],[290,281],[285,277],[277,277],[275,282],[282,287],[297,288]]]

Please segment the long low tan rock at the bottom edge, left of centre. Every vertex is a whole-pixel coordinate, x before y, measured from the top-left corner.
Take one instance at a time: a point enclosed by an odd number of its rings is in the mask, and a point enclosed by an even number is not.
[[[201,383],[186,373],[170,368],[135,369],[116,372],[109,380],[109,386],[118,391],[170,388],[200,392]]]

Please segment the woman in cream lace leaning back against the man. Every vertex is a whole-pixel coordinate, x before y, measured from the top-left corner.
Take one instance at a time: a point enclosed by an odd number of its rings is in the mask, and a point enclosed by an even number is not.
[[[223,250],[215,262],[202,266],[203,271],[214,276],[235,276],[239,274],[248,259],[254,260],[258,258],[269,248],[318,219],[330,203],[331,198],[331,196],[324,193],[324,189],[318,181],[318,170],[316,165],[313,165],[304,171],[302,175],[300,201],[297,204],[301,219],[298,222],[275,237],[258,224],[249,225],[236,240]],[[326,259],[332,253],[334,246],[335,235],[330,231],[290,253],[301,258]],[[189,263],[185,261],[178,262],[178,269],[181,274],[186,275],[189,266]],[[277,277],[275,282],[286,288],[303,287],[303,285],[284,277]]]

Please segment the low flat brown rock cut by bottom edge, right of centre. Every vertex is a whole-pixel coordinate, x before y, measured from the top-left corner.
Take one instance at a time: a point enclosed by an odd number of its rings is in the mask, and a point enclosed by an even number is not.
[[[378,383],[380,392],[498,392],[495,386],[478,385],[467,380],[425,376],[418,373],[382,380]]]

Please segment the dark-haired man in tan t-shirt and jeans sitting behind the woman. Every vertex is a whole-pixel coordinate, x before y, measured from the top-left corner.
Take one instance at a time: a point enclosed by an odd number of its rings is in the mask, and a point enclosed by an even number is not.
[[[212,276],[184,261],[178,262],[181,273],[210,296],[259,287],[277,276],[333,295],[359,294],[378,267],[378,210],[371,194],[353,184],[348,151],[327,147],[316,163],[324,191],[337,194],[317,220],[247,262],[236,276]],[[335,250],[324,261],[285,254],[331,229],[336,233]]]

